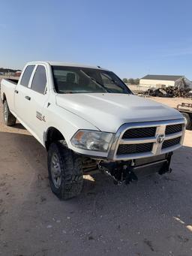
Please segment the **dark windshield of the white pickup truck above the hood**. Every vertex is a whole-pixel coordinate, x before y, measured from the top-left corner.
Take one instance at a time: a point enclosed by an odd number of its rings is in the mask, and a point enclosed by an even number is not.
[[[52,66],[58,93],[125,93],[130,89],[111,71],[94,68]]]

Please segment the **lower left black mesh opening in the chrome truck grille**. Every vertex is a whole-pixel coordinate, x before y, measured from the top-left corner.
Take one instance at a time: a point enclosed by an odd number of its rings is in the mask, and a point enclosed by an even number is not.
[[[152,146],[153,143],[121,144],[118,146],[117,155],[150,152],[152,150]]]

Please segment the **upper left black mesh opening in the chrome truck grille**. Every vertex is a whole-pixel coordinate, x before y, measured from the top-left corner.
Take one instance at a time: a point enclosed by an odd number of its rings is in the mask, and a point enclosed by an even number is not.
[[[156,127],[132,128],[124,132],[122,139],[154,137]]]

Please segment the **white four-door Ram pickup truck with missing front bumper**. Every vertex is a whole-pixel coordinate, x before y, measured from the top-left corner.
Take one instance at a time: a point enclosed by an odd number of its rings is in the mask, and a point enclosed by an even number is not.
[[[1,81],[1,100],[5,124],[18,119],[47,149],[50,185],[61,199],[80,194],[92,170],[116,183],[169,172],[184,139],[181,113],[133,95],[100,67],[30,62],[19,81]]]

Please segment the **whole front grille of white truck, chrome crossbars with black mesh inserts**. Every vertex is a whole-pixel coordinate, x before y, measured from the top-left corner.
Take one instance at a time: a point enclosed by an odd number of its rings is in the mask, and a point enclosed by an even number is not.
[[[113,159],[139,159],[162,155],[164,152],[179,148],[183,141],[184,121],[178,120],[121,125],[117,133],[118,139],[114,141],[114,147],[110,152]],[[157,141],[158,135],[164,135],[163,143]]]

